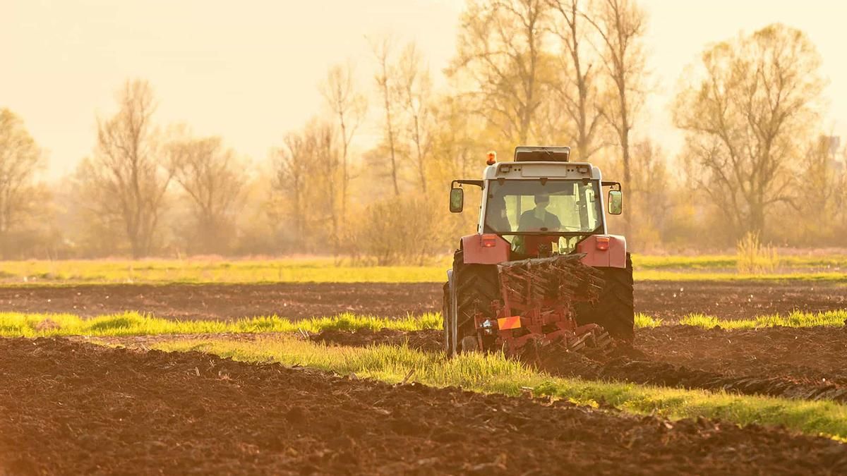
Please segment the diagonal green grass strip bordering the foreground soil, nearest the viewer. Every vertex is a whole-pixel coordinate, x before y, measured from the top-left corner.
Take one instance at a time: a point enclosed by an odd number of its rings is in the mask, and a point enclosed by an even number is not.
[[[739,424],[782,424],[806,434],[847,437],[847,407],[832,401],[794,401],[562,379],[501,355],[470,354],[447,359],[405,346],[334,347],[292,339],[169,341],[156,347],[164,351],[203,351],[248,363],[278,362],[338,374],[354,373],[390,384],[413,371],[413,381],[437,387],[460,385],[468,390],[508,396],[518,396],[523,387],[531,387],[538,396],[555,396],[594,407],[605,402],[623,412],[639,415],[656,414],[672,419],[704,416]]]

